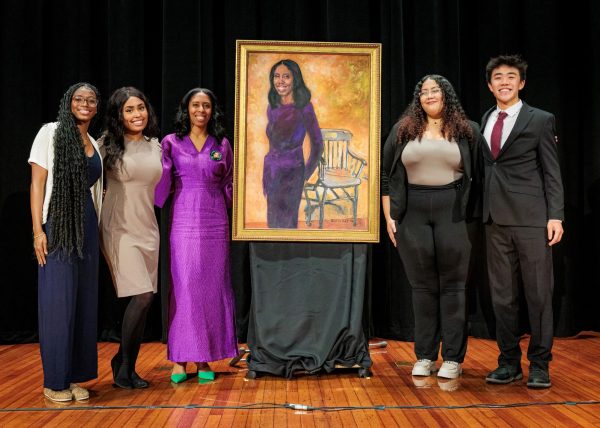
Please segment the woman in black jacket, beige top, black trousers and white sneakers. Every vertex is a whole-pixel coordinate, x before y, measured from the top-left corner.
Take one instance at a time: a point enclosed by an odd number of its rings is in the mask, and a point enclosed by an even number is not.
[[[412,287],[413,376],[436,371],[440,340],[438,377],[462,373],[471,254],[465,220],[477,201],[481,139],[450,82],[434,74],[417,83],[385,143],[382,204],[387,232]]]

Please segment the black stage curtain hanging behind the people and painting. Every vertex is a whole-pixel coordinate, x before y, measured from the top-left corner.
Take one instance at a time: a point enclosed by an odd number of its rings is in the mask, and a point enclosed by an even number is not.
[[[382,43],[382,140],[424,74],[446,76],[467,114],[479,121],[493,104],[483,72],[487,60],[499,53],[523,54],[530,68],[522,97],[556,114],[560,139],[566,234],[554,253],[555,332],[600,330],[600,3],[7,0],[0,11],[2,342],[36,339],[37,270],[26,160],[41,124],[55,119],[66,88],[89,81],[106,100],[120,86],[139,87],[166,134],[181,96],[194,86],[209,87],[220,98],[232,136],[236,39]],[[164,232],[163,227],[163,238]],[[489,336],[493,315],[481,228],[474,225],[472,232],[479,244],[469,284],[471,333]],[[410,290],[384,227],[381,240],[369,248],[369,331],[408,340]],[[232,260],[243,340],[250,298],[247,244],[232,244]],[[147,332],[151,338],[161,336],[166,278],[163,269],[162,296]],[[100,337],[106,339],[118,331],[123,302],[117,302],[105,271],[101,282]]]

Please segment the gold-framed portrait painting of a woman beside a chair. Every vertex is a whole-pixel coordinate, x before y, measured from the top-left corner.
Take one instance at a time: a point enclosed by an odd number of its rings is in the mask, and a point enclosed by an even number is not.
[[[381,45],[236,49],[233,239],[378,242]]]

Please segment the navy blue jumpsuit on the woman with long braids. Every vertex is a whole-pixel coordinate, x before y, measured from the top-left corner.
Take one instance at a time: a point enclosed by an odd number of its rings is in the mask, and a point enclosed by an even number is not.
[[[87,158],[88,185],[102,174],[99,154]],[[50,231],[45,225],[46,233]],[[44,387],[68,389],[70,383],[98,377],[98,217],[88,190],[83,258],[48,254],[38,268],[38,320]],[[48,236],[48,240],[52,239]]]

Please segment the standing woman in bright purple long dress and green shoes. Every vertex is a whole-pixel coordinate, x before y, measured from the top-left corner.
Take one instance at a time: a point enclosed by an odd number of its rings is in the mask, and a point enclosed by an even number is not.
[[[208,362],[236,355],[234,300],[229,273],[232,152],[212,91],[195,88],[179,105],[174,134],[162,140],[163,175],[155,203],[173,192],[170,226],[171,293],[168,358],[174,383],[215,377]]]

